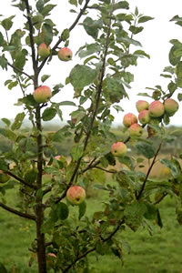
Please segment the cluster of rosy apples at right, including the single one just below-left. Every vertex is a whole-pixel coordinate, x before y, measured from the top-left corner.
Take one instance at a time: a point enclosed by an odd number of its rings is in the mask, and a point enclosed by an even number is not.
[[[156,134],[150,125],[158,125],[164,115],[174,116],[178,110],[178,103],[173,98],[167,98],[164,103],[155,100],[150,104],[146,100],[136,102],[138,116],[133,113],[127,113],[123,117],[123,125],[127,128],[130,137],[142,136],[143,127],[147,126],[148,136]],[[138,123],[139,122],[139,123]],[[127,147],[124,142],[116,142],[111,146],[111,153],[115,157],[126,155]]]

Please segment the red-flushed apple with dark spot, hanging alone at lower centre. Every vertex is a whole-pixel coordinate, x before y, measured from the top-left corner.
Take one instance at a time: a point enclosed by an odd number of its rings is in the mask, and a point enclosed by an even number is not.
[[[86,198],[86,191],[83,187],[72,186],[66,191],[67,200],[73,205],[81,204]]]

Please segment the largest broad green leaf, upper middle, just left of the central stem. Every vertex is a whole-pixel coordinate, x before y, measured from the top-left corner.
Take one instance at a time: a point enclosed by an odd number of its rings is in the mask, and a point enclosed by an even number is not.
[[[83,89],[96,80],[97,70],[89,66],[76,65],[70,72],[70,82],[75,89]]]

